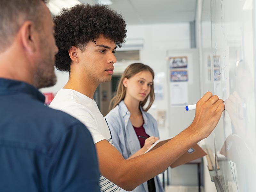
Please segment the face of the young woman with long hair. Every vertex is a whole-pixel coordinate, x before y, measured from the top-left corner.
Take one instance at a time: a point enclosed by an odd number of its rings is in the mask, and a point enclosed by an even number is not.
[[[140,71],[129,79],[124,78],[125,97],[143,101],[148,96],[153,84],[153,76],[149,71]]]

